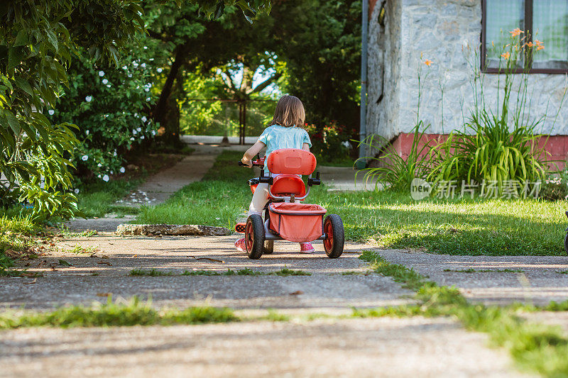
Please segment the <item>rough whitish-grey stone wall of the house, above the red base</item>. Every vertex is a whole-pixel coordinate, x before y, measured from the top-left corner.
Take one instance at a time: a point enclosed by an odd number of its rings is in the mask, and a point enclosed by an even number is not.
[[[481,36],[481,1],[389,0],[387,4],[386,28],[378,26],[376,21],[379,6],[371,16],[368,133],[390,139],[413,130],[419,67],[422,67],[423,85],[420,118],[431,124],[427,133],[449,133],[463,128],[464,117],[467,118],[474,104],[469,63],[479,66],[479,57],[474,56],[474,50],[479,49]],[[546,45],[546,41],[544,43]],[[420,55],[422,60],[432,60],[430,68],[421,62]],[[491,109],[496,109],[498,79],[497,74],[484,77],[485,100]],[[518,83],[521,76],[515,75],[515,79]],[[548,118],[539,129],[542,132],[568,134],[568,104],[562,106],[552,126],[566,84],[567,78],[562,74],[529,75],[530,117],[544,116],[548,106]],[[381,87],[383,100],[377,104]],[[443,96],[441,88],[444,89]]]

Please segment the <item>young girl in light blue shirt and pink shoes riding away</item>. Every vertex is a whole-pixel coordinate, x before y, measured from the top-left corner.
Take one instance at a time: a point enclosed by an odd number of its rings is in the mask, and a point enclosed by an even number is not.
[[[253,166],[251,160],[265,147],[265,156],[267,157],[271,152],[280,150],[280,148],[301,148],[309,151],[312,142],[307,131],[302,128],[305,118],[304,106],[300,99],[288,95],[280,97],[278,104],[276,104],[271,126],[268,126],[258,137],[256,143],[249,150],[246,150],[241,161],[251,168]],[[268,168],[265,167],[264,170],[265,174],[268,175]],[[258,184],[247,216],[251,214],[262,216],[266,202],[268,202],[268,184]],[[235,247],[241,252],[246,252],[244,238],[236,240]],[[300,243],[300,252],[314,252],[312,243]]]

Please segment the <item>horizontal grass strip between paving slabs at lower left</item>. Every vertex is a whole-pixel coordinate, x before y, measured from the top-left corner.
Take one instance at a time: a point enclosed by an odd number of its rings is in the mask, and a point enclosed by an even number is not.
[[[109,326],[170,326],[173,324],[224,323],[239,321],[229,308],[190,307],[184,310],[156,310],[151,302],[136,297],[126,304],[107,301],[94,307],[70,306],[45,313],[0,315],[0,329],[22,327],[109,327]]]

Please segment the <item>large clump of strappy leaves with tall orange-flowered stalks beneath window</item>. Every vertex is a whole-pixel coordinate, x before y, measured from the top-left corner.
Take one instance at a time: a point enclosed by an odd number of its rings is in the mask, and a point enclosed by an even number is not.
[[[503,187],[511,182],[522,188],[545,179],[550,154],[544,149],[545,143],[539,144],[545,136],[537,129],[547,114],[545,111],[540,117],[531,115],[528,68],[517,74],[524,57],[532,56],[544,45],[539,40],[525,43],[522,33],[516,29],[510,32],[510,40],[499,55],[501,74],[497,77],[496,109],[488,104],[484,93],[486,70],[470,65],[474,70],[471,81],[474,106],[464,130],[452,131],[447,140],[432,149],[436,162],[429,175],[432,181],[491,182],[501,194]],[[477,58],[474,54],[474,59]],[[558,113],[559,109],[554,121]]]

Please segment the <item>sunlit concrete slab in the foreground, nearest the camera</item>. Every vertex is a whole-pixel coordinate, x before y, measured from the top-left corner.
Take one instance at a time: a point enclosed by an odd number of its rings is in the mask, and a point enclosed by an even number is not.
[[[4,377],[520,377],[486,335],[447,318],[21,329]]]

